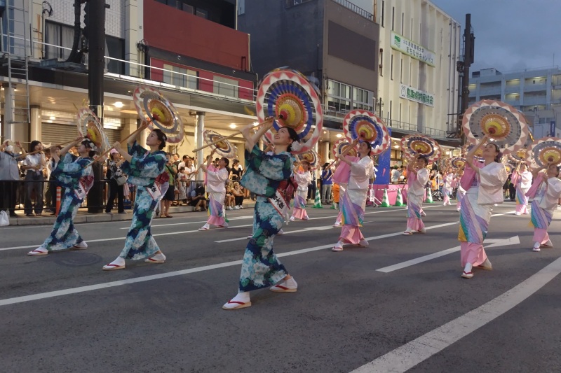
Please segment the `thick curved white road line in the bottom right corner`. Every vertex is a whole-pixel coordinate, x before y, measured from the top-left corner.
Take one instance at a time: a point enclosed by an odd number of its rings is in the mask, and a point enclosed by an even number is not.
[[[376,360],[353,370],[351,373],[407,372],[415,365],[458,342],[471,332],[505,314],[522,303],[530,295],[546,286],[561,273],[561,258],[550,263],[539,272],[522,281],[506,293],[499,295],[481,307],[456,318],[414,339],[413,341],[380,356]]]

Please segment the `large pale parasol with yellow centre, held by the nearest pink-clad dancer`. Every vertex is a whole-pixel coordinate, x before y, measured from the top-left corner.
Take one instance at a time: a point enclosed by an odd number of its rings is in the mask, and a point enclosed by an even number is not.
[[[488,135],[503,154],[511,154],[524,146],[528,136],[525,116],[511,105],[496,100],[482,100],[471,105],[462,121],[470,143]]]

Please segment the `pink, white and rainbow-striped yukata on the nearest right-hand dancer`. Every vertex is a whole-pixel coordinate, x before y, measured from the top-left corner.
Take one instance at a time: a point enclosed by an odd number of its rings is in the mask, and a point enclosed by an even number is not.
[[[462,267],[467,263],[477,267],[487,259],[483,241],[489,229],[491,208],[493,204],[503,203],[503,184],[507,177],[502,163],[492,162],[487,166],[478,163],[477,166],[479,174],[466,165],[461,178],[461,187],[467,190],[461,199],[458,233]]]

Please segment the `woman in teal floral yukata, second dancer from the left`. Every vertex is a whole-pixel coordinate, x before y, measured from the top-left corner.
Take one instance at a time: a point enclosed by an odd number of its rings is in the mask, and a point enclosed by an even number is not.
[[[148,125],[143,124],[144,128]],[[160,129],[154,129],[146,139],[149,149],[140,146],[136,139],[130,139],[128,150],[121,148],[121,143],[114,143],[125,162],[121,166],[123,174],[128,175],[128,183],[137,185],[133,221],[130,224],[125,247],[121,254],[108,265],[103,266],[104,271],[125,268],[125,259],[144,259],[147,263],[163,263],[165,255],[160,251],[156,240],[150,232],[150,225],[154,217],[154,209],[160,202],[162,192],[156,178],[165,168],[165,147],[167,136]]]

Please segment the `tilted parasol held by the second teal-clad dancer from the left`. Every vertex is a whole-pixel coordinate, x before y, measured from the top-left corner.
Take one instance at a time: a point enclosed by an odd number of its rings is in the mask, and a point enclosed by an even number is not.
[[[184,128],[179,113],[163,95],[154,88],[140,85],[133,93],[135,108],[142,119],[148,117],[150,126],[159,128],[168,136],[168,143],[180,143],[183,139]]]

